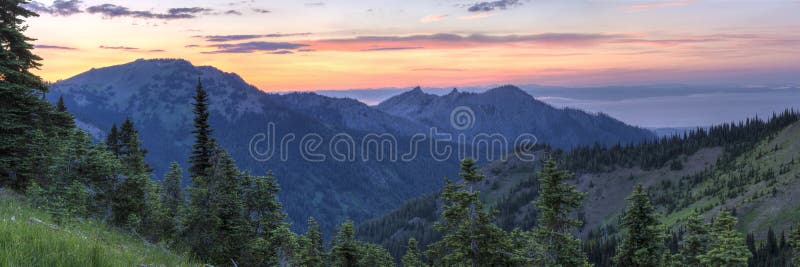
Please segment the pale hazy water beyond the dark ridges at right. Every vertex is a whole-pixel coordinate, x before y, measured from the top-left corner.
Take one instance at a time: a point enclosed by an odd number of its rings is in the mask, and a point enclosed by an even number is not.
[[[556,107],[603,112],[626,123],[647,127],[708,126],[766,118],[786,108],[800,109],[800,91],[763,93],[714,93],[688,96],[643,97],[623,100],[587,100],[537,97]]]

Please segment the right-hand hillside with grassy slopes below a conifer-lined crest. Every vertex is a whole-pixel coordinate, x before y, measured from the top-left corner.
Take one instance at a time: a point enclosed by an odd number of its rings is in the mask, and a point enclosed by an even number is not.
[[[745,132],[750,134],[742,134]],[[756,137],[746,137],[751,135]],[[788,231],[800,218],[798,137],[800,122],[796,115],[788,115],[768,123],[753,120],[736,126],[721,125],[712,127],[710,132],[701,130],[700,134],[630,147],[570,152],[537,149],[540,158],[550,154],[577,173],[571,183],[587,193],[577,214],[585,221],[577,233],[582,239],[604,239],[616,234],[617,220],[627,203],[625,198],[636,184],[644,185],[662,223],[672,229],[677,229],[693,210],[702,211],[710,219],[724,207],[735,210],[741,232],[763,239],[770,228]],[[627,151],[628,158],[614,151]],[[634,151],[653,151],[649,153],[651,157],[660,160],[638,159]],[[578,158],[582,159],[579,163],[563,162]],[[602,163],[607,162],[606,158],[614,158],[616,163]],[[507,230],[535,226],[538,211],[531,202],[538,197],[539,171],[540,163],[513,158],[481,168],[487,177],[480,188],[481,197],[498,211],[495,221],[499,226]],[[363,223],[358,235],[402,255],[409,237],[423,244],[440,238],[433,223],[439,218],[441,205],[436,193],[410,200],[399,209]]]

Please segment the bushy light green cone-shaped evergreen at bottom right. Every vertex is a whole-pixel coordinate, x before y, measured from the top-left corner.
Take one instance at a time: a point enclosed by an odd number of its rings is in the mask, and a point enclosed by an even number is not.
[[[701,255],[705,266],[747,266],[752,255],[744,238],[736,231],[737,220],[727,210],[720,211],[711,225],[711,244],[708,252]]]

